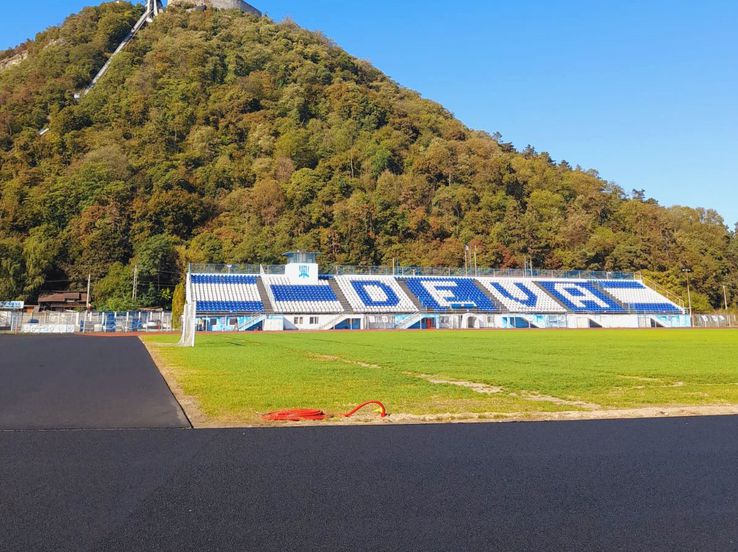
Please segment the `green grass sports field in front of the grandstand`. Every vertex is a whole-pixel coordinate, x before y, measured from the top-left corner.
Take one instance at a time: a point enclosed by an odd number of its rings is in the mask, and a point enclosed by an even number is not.
[[[738,405],[738,331],[427,331],[147,336],[200,425],[368,399],[395,420]],[[193,412],[191,411],[192,415]]]

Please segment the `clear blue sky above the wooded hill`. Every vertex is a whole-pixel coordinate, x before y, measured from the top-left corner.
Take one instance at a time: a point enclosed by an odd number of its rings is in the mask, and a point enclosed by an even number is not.
[[[99,2],[4,3],[0,48]],[[324,32],[470,127],[738,222],[736,0],[252,3]]]

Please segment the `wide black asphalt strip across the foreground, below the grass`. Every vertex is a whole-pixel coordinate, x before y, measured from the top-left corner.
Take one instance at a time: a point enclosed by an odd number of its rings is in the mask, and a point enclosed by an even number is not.
[[[0,432],[0,549],[738,550],[738,418]]]

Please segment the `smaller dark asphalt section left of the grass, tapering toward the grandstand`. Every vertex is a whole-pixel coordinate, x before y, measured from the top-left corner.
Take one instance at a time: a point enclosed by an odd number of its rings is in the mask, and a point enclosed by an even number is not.
[[[0,336],[0,429],[189,427],[135,337]]]

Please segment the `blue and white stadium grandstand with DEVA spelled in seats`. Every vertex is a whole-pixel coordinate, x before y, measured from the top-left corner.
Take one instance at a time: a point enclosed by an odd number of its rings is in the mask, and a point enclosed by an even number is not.
[[[631,273],[417,267],[321,273],[315,253],[286,256],[281,266],[190,266],[185,328],[194,334],[691,326],[683,305]]]

